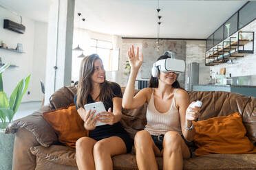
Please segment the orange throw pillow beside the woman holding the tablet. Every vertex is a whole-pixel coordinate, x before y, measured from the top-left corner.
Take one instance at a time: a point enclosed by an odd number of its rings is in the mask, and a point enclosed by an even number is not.
[[[58,134],[58,141],[69,147],[75,148],[78,138],[89,136],[89,131],[83,127],[84,122],[76,111],[76,106],[43,112],[43,117]]]

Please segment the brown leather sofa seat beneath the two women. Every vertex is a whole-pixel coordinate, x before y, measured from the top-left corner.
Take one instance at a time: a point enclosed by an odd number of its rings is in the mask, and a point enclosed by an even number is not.
[[[43,169],[67,165],[76,167],[75,149],[61,145],[52,145],[48,148],[36,146],[30,148],[36,156],[36,161]],[[136,156],[134,154],[121,154],[112,158],[115,170],[137,170]],[[162,169],[162,158],[156,158],[158,169]],[[210,154],[195,158],[184,159],[184,170],[240,170],[256,169],[256,154]],[[36,166],[37,167],[37,166]],[[60,166],[61,167],[61,166]],[[54,168],[53,168],[54,169]]]

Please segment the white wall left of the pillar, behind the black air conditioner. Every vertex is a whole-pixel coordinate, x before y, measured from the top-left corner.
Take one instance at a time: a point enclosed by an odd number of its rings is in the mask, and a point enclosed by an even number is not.
[[[0,41],[6,42],[9,48],[17,47],[17,43],[23,45],[25,53],[15,53],[0,49],[0,57],[4,63],[11,62],[19,67],[9,68],[3,73],[3,88],[7,96],[10,97],[12,90],[17,86],[19,81],[31,74],[30,85],[22,101],[37,101],[42,99],[40,82],[45,77],[45,52],[47,23],[35,22],[23,17],[25,25],[25,34],[18,34],[8,29],[3,29],[3,19],[20,23],[19,16],[12,14],[8,10],[0,8]],[[47,31],[47,29],[46,29]]]

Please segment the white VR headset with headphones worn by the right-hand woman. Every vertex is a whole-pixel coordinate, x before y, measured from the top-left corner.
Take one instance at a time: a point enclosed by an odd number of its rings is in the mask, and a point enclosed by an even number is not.
[[[175,53],[171,51],[165,51],[164,56],[170,56],[171,58],[158,60],[153,64],[151,70],[152,77],[158,77],[159,71],[163,73],[178,72],[182,73],[185,71],[185,62],[184,60],[175,59]]]

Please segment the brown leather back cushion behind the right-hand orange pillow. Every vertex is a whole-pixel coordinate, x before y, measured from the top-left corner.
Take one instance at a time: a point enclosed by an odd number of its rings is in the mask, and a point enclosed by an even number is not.
[[[188,92],[190,101],[202,101],[199,121],[224,117],[234,112],[242,115],[247,136],[256,143],[256,98],[223,91]]]

